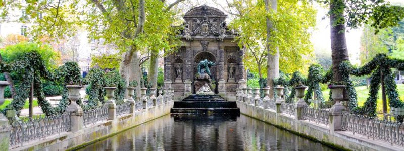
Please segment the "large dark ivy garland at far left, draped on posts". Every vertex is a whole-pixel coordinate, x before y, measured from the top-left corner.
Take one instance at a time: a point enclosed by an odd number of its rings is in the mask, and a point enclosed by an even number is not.
[[[3,114],[9,109],[16,110],[17,115],[20,114],[26,99],[29,97],[29,89],[32,83],[34,86],[34,96],[38,99],[38,105],[41,107],[42,111],[48,116],[61,114],[65,111],[69,102],[66,87],[59,105],[52,107],[52,105],[46,101],[42,92],[41,79],[63,81],[64,86],[67,84],[81,84],[80,69],[77,63],[68,62],[59,67],[56,71],[51,72],[46,69],[42,57],[36,51],[27,52],[22,58],[11,63],[0,62],[0,72],[6,71],[19,73],[24,80],[16,88],[17,95],[13,98],[11,104],[2,111]]]

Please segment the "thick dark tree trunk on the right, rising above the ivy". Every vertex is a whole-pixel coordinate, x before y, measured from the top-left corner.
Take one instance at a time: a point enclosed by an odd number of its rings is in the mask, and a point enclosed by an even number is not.
[[[343,0],[331,1],[330,12],[343,7],[340,6],[343,4],[343,2],[340,1]],[[337,25],[336,22],[338,18],[343,18],[343,12],[339,14],[330,14],[332,71],[333,81],[335,82],[342,81],[342,74],[339,71],[339,64],[343,61],[349,60],[348,49],[346,47],[345,25],[344,23],[339,23]]]

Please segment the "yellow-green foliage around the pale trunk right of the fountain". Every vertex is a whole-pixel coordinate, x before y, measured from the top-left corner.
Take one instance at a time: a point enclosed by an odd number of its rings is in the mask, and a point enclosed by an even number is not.
[[[266,60],[261,57],[268,53],[266,17],[276,29],[270,31],[268,47],[270,54],[279,48],[280,70],[293,73],[311,60],[313,48],[309,29],[316,23],[315,8],[307,1],[278,1],[277,5],[277,12],[267,12],[264,1],[236,0],[230,3],[230,9],[236,10],[237,15],[229,27],[241,31],[236,39],[239,47],[247,47],[245,63],[254,72],[258,72],[261,64],[264,72],[266,69]]]

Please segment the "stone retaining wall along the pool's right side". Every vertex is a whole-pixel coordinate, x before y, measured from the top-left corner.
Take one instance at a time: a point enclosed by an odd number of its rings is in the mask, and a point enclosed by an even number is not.
[[[377,140],[367,139],[365,136],[352,135],[347,131],[335,131],[331,133],[328,127],[315,124],[308,120],[296,120],[292,116],[276,111],[263,109],[250,104],[237,101],[240,113],[246,116],[264,121],[278,128],[288,130],[294,134],[307,137],[314,141],[343,150],[404,150],[398,145]]]

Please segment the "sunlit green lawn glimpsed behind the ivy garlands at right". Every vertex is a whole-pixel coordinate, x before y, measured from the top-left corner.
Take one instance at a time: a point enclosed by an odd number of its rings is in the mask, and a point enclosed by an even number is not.
[[[358,95],[358,105],[363,106],[366,99],[369,97],[369,89],[366,89],[366,86],[359,86],[359,87],[355,87],[355,90],[357,91],[357,95]],[[397,84],[397,90],[398,90],[398,95],[400,96],[400,99],[404,100],[404,84]],[[330,89],[323,90],[322,92],[323,92],[324,99],[328,100]],[[377,112],[382,113],[383,104],[382,104],[381,87],[379,90],[378,97],[379,98],[377,99]],[[387,110],[390,110],[390,107],[388,106],[388,97],[387,97]]]

